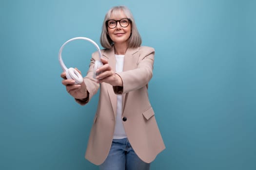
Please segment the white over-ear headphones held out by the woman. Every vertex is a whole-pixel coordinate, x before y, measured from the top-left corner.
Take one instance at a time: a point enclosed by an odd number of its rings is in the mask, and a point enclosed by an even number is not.
[[[62,57],[61,57],[61,53],[62,53],[62,50],[64,48],[64,46],[69,43],[70,41],[73,41],[73,40],[77,40],[77,39],[83,39],[83,40],[86,40],[86,41],[89,41],[91,43],[93,43],[97,50],[98,50],[98,56],[99,58],[101,58],[101,52],[100,52],[100,49],[98,47],[98,44],[96,44],[96,42],[94,42],[93,40],[91,40],[90,38],[86,38],[86,37],[75,37],[75,38],[71,38],[69,39],[68,41],[66,41],[62,46],[61,48],[59,49],[59,64],[61,66],[61,68],[63,69],[63,71],[66,72],[66,78],[67,79],[73,79],[76,81],[76,84],[81,84],[83,82],[83,77],[81,76],[81,74],[75,69],[75,68],[67,68],[65,66],[65,64],[63,63],[62,61]],[[96,60],[95,61],[95,64],[94,64],[94,73],[93,73],[93,77],[95,78],[96,77],[96,70],[101,67],[103,64],[101,63],[100,60]]]

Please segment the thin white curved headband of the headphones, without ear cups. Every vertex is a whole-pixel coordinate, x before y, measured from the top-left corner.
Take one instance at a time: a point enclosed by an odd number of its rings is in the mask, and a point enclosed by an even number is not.
[[[93,45],[95,45],[95,47],[96,47],[97,50],[98,50],[98,56],[99,56],[99,58],[101,58],[101,52],[100,52],[100,49],[99,49],[99,47],[98,47],[98,44],[97,44],[96,42],[94,42],[92,39],[87,38],[87,37],[82,37],[82,36],[75,37],[75,38],[71,38],[71,39],[67,40],[67,41],[60,47],[60,49],[59,49],[59,64],[60,64],[61,68],[63,69],[63,71],[67,71],[68,68],[67,68],[67,67],[65,66],[65,64],[63,63],[63,60],[62,60],[62,57],[61,57],[62,50],[63,50],[64,46],[65,46],[67,43],[69,43],[69,42],[71,42],[71,41],[74,41],[74,40],[77,40],[77,39],[83,39],[83,40],[89,41],[89,42],[91,42]]]

